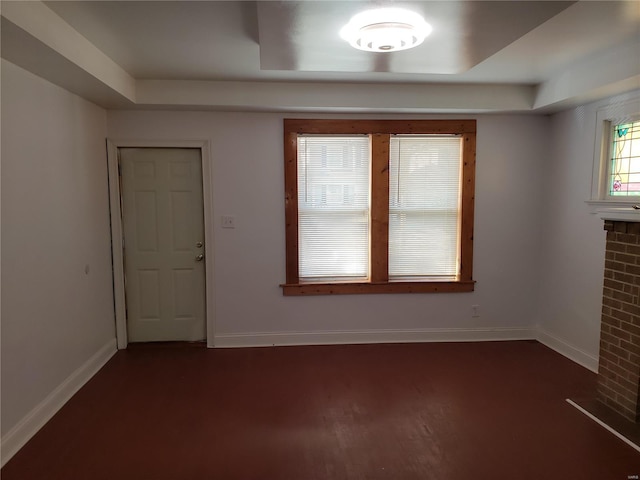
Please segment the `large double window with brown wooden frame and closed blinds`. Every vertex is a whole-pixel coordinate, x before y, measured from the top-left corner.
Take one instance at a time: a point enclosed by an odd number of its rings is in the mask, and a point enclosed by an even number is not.
[[[475,120],[285,120],[285,295],[472,291]]]

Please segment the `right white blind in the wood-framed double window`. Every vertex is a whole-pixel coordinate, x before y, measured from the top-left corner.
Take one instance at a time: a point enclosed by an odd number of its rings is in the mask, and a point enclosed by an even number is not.
[[[459,273],[459,136],[393,135],[389,168],[389,280]]]

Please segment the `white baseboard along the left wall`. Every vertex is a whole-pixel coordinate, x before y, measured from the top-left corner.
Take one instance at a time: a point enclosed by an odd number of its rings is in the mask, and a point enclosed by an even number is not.
[[[117,352],[116,339],[109,340],[89,360],[67,377],[42,402],[31,410],[1,440],[2,466],[40,430],[51,417]]]

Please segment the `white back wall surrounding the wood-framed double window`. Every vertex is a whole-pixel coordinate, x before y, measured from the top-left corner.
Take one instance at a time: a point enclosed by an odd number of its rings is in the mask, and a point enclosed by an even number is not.
[[[211,141],[217,345],[500,337],[472,331],[478,328],[529,335],[538,297],[537,199],[548,158],[541,141],[549,133],[548,118],[476,117],[475,292],[296,298],[283,297],[279,288],[285,280],[284,117],[108,112],[113,139]],[[236,215],[234,230],[220,228],[226,214]],[[480,305],[480,318],[471,317],[472,304]],[[429,329],[447,331],[416,335]],[[455,329],[467,332],[456,336]]]

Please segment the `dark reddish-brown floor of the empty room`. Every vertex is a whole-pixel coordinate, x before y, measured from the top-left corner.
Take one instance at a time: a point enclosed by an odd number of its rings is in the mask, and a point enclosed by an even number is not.
[[[627,480],[573,408],[595,374],[537,342],[118,352],[2,480]]]

